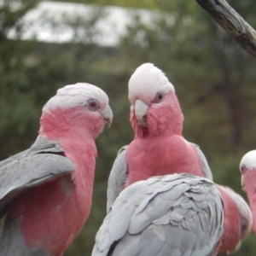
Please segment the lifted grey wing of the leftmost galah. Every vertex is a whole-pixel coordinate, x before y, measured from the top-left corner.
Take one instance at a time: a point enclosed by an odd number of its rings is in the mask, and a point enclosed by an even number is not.
[[[71,160],[56,152],[47,153],[40,148],[40,142],[36,143],[26,150],[25,154],[20,154],[20,157],[15,157],[9,164],[0,168],[0,211],[25,189],[73,172],[74,166]],[[44,148],[47,148],[46,143]]]

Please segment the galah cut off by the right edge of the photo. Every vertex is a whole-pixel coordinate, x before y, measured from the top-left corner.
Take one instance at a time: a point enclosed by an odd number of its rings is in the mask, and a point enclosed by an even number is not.
[[[253,214],[253,233],[256,236],[256,150],[247,152],[240,162],[241,187],[247,193]]]

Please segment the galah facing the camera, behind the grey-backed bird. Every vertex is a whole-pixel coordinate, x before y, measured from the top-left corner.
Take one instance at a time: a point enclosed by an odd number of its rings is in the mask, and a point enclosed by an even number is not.
[[[183,138],[183,113],[173,85],[159,68],[151,63],[137,67],[129,81],[129,100],[135,137],[113,163],[107,212],[122,189],[148,177],[188,172],[212,179],[201,149]]]

